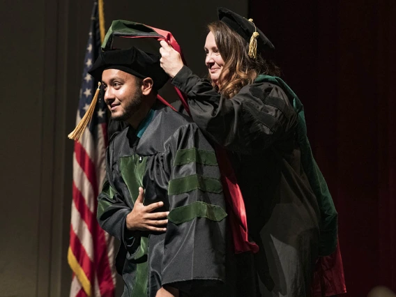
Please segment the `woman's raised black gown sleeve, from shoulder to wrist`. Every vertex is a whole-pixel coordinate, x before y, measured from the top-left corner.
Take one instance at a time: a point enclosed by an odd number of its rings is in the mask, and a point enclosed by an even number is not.
[[[172,84],[188,95],[192,119],[199,128],[231,151],[261,151],[287,139],[297,125],[286,94],[269,82],[244,86],[227,99],[183,66]]]

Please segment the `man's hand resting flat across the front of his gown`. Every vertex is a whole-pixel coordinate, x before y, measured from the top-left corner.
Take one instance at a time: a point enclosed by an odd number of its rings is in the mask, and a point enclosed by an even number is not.
[[[139,187],[139,196],[135,201],[133,209],[126,216],[126,227],[131,231],[167,231],[167,228],[163,227],[167,224],[167,215],[169,211],[162,213],[152,213],[156,208],[164,205],[164,202],[156,202],[148,206],[144,206],[144,190]]]

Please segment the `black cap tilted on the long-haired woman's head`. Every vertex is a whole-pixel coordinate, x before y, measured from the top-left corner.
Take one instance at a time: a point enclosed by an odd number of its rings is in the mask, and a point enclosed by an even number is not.
[[[261,32],[259,28],[254,26],[252,19],[248,20],[245,17],[238,15],[238,13],[234,13],[234,11],[224,7],[218,8],[218,17],[221,22],[227,24],[230,29],[236,31],[236,33],[242,36],[242,38],[248,43],[251,42],[253,33],[257,31],[257,33],[259,33],[256,38],[257,48],[260,52],[275,49],[271,41],[264,35],[264,33]]]

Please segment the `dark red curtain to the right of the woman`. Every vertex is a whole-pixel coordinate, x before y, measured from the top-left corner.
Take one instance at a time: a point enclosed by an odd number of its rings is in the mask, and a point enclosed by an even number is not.
[[[348,293],[396,291],[396,1],[250,0],[339,213]]]

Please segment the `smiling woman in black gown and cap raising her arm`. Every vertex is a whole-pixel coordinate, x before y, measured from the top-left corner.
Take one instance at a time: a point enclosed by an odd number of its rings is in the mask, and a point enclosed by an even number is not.
[[[312,158],[303,106],[261,55],[273,45],[252,20],[218,8],[208,25],[210,79],[161,42],[161,66],[188,96],[192,119],[227,149],[259,252],[236,255],[241,296],[311,296],[314,266],[337,246],[337,212]],[[243,265],[242,265],[243,264]]]

